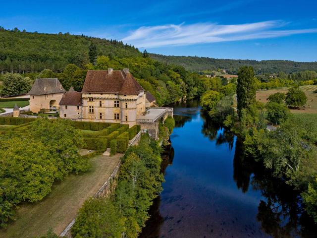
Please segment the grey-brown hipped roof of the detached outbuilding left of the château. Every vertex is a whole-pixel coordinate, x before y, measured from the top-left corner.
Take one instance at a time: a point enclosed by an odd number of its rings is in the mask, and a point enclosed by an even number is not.
[[[28,93],[29,95],[44,95],[66,92],[57,78],[37,78]]]

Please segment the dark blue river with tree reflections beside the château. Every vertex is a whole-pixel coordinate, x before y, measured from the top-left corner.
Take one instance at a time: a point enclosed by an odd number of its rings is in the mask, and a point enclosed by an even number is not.
[[[313,238],[298,193],[245,158],[241,140],[198,101],[174,106],[163,191],[140,238]]]

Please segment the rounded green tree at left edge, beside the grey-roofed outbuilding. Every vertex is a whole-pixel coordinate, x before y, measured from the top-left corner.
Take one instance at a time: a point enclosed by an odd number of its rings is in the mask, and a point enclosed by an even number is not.
[[[2,96],[26,94],[32,87],[32,80],[17,73],[6,73],[2,76]]]

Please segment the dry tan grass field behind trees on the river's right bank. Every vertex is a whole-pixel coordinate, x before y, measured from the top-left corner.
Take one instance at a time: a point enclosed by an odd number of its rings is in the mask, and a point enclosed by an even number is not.
[[[260,102],[267,102],[267,98],[269,95],[282,92],[287,93],[289,87],[285,88],[273,88],[269,90],[263,90],[263,91],[257,91],[257,100]],[[317,85],[307,85],[307,86],[300,86],[300,89],[302,89],[306,96],[307,96],[307,103],[305,105],[305,108],[301,109],[291,109],[292,113],[316,113],[317,114],[317,93],[314,93],[315,90],[317,90]]]

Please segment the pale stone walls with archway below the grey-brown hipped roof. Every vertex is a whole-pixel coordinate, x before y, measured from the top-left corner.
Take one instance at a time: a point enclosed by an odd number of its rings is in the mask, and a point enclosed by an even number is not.
[[[45,95],[30,95],[30,111],[38,113],[41,109],[50,109],[51,106],[59,109],[59,102],[63,97],[64,93],[53,93]]]

